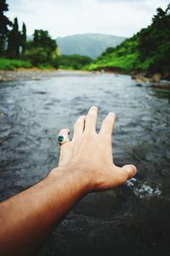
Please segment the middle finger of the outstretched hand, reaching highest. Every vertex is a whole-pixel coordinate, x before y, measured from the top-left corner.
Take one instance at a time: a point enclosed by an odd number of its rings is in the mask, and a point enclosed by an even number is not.
[[[93,106],[89,109],[88,114],[86,116],[86,124],[85,124],[84,132],[88,132],[88,131],[95,132],[97,117],[98,117],[98,108]]]

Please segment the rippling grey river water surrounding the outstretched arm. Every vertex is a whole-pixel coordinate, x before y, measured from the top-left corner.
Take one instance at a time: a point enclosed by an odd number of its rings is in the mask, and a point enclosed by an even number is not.
[[[129,76],[52,73],[0,84],[0,199],[57,165],[56,135],[92,105],[97,130],[116,112],[114,160],[138,174],[118,189],[91,193],[54,230],[38,255],[170,255],[170,91]]]

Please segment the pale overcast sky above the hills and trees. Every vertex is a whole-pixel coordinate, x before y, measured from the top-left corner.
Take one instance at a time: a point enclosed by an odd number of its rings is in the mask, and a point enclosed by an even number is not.
[[[150,24],[156,8],[170,0],[7,0],[13,20],[26,23],[27,34],[48,30],[53,38],[77,33],[130,37]]]

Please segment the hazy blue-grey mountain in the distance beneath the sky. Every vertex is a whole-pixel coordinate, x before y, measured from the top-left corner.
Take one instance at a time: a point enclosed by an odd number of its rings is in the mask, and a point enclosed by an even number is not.
[[[57,38],[57,44],[63,55],[87,55],[96,58],[108,47],[116,47],[126,38],[103,34],[77,34]]]

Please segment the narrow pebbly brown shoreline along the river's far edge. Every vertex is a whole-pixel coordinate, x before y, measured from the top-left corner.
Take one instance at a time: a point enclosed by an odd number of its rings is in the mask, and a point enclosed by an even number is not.
[[[0,82],[14,81],[20,79],[30,80],[41,80],[42,77],[48,76],[62,76],[62,75],[89,75],[89,74],[102,74],[102,73],[115,73],[115,74],[126,74],[131,76],[136,81],[137,86],[149,85],[150,87],[168,89],[170,90],[170,80],[163,80],[163,76],[160,73],[146,74],[146,73],[125,73],[121,70],[113,69],[101,69],[96,71],[86,70],[65,70],[65,69],[40,69],[37,67],[31,68],[17,68],[14,71],[0,70]]]

